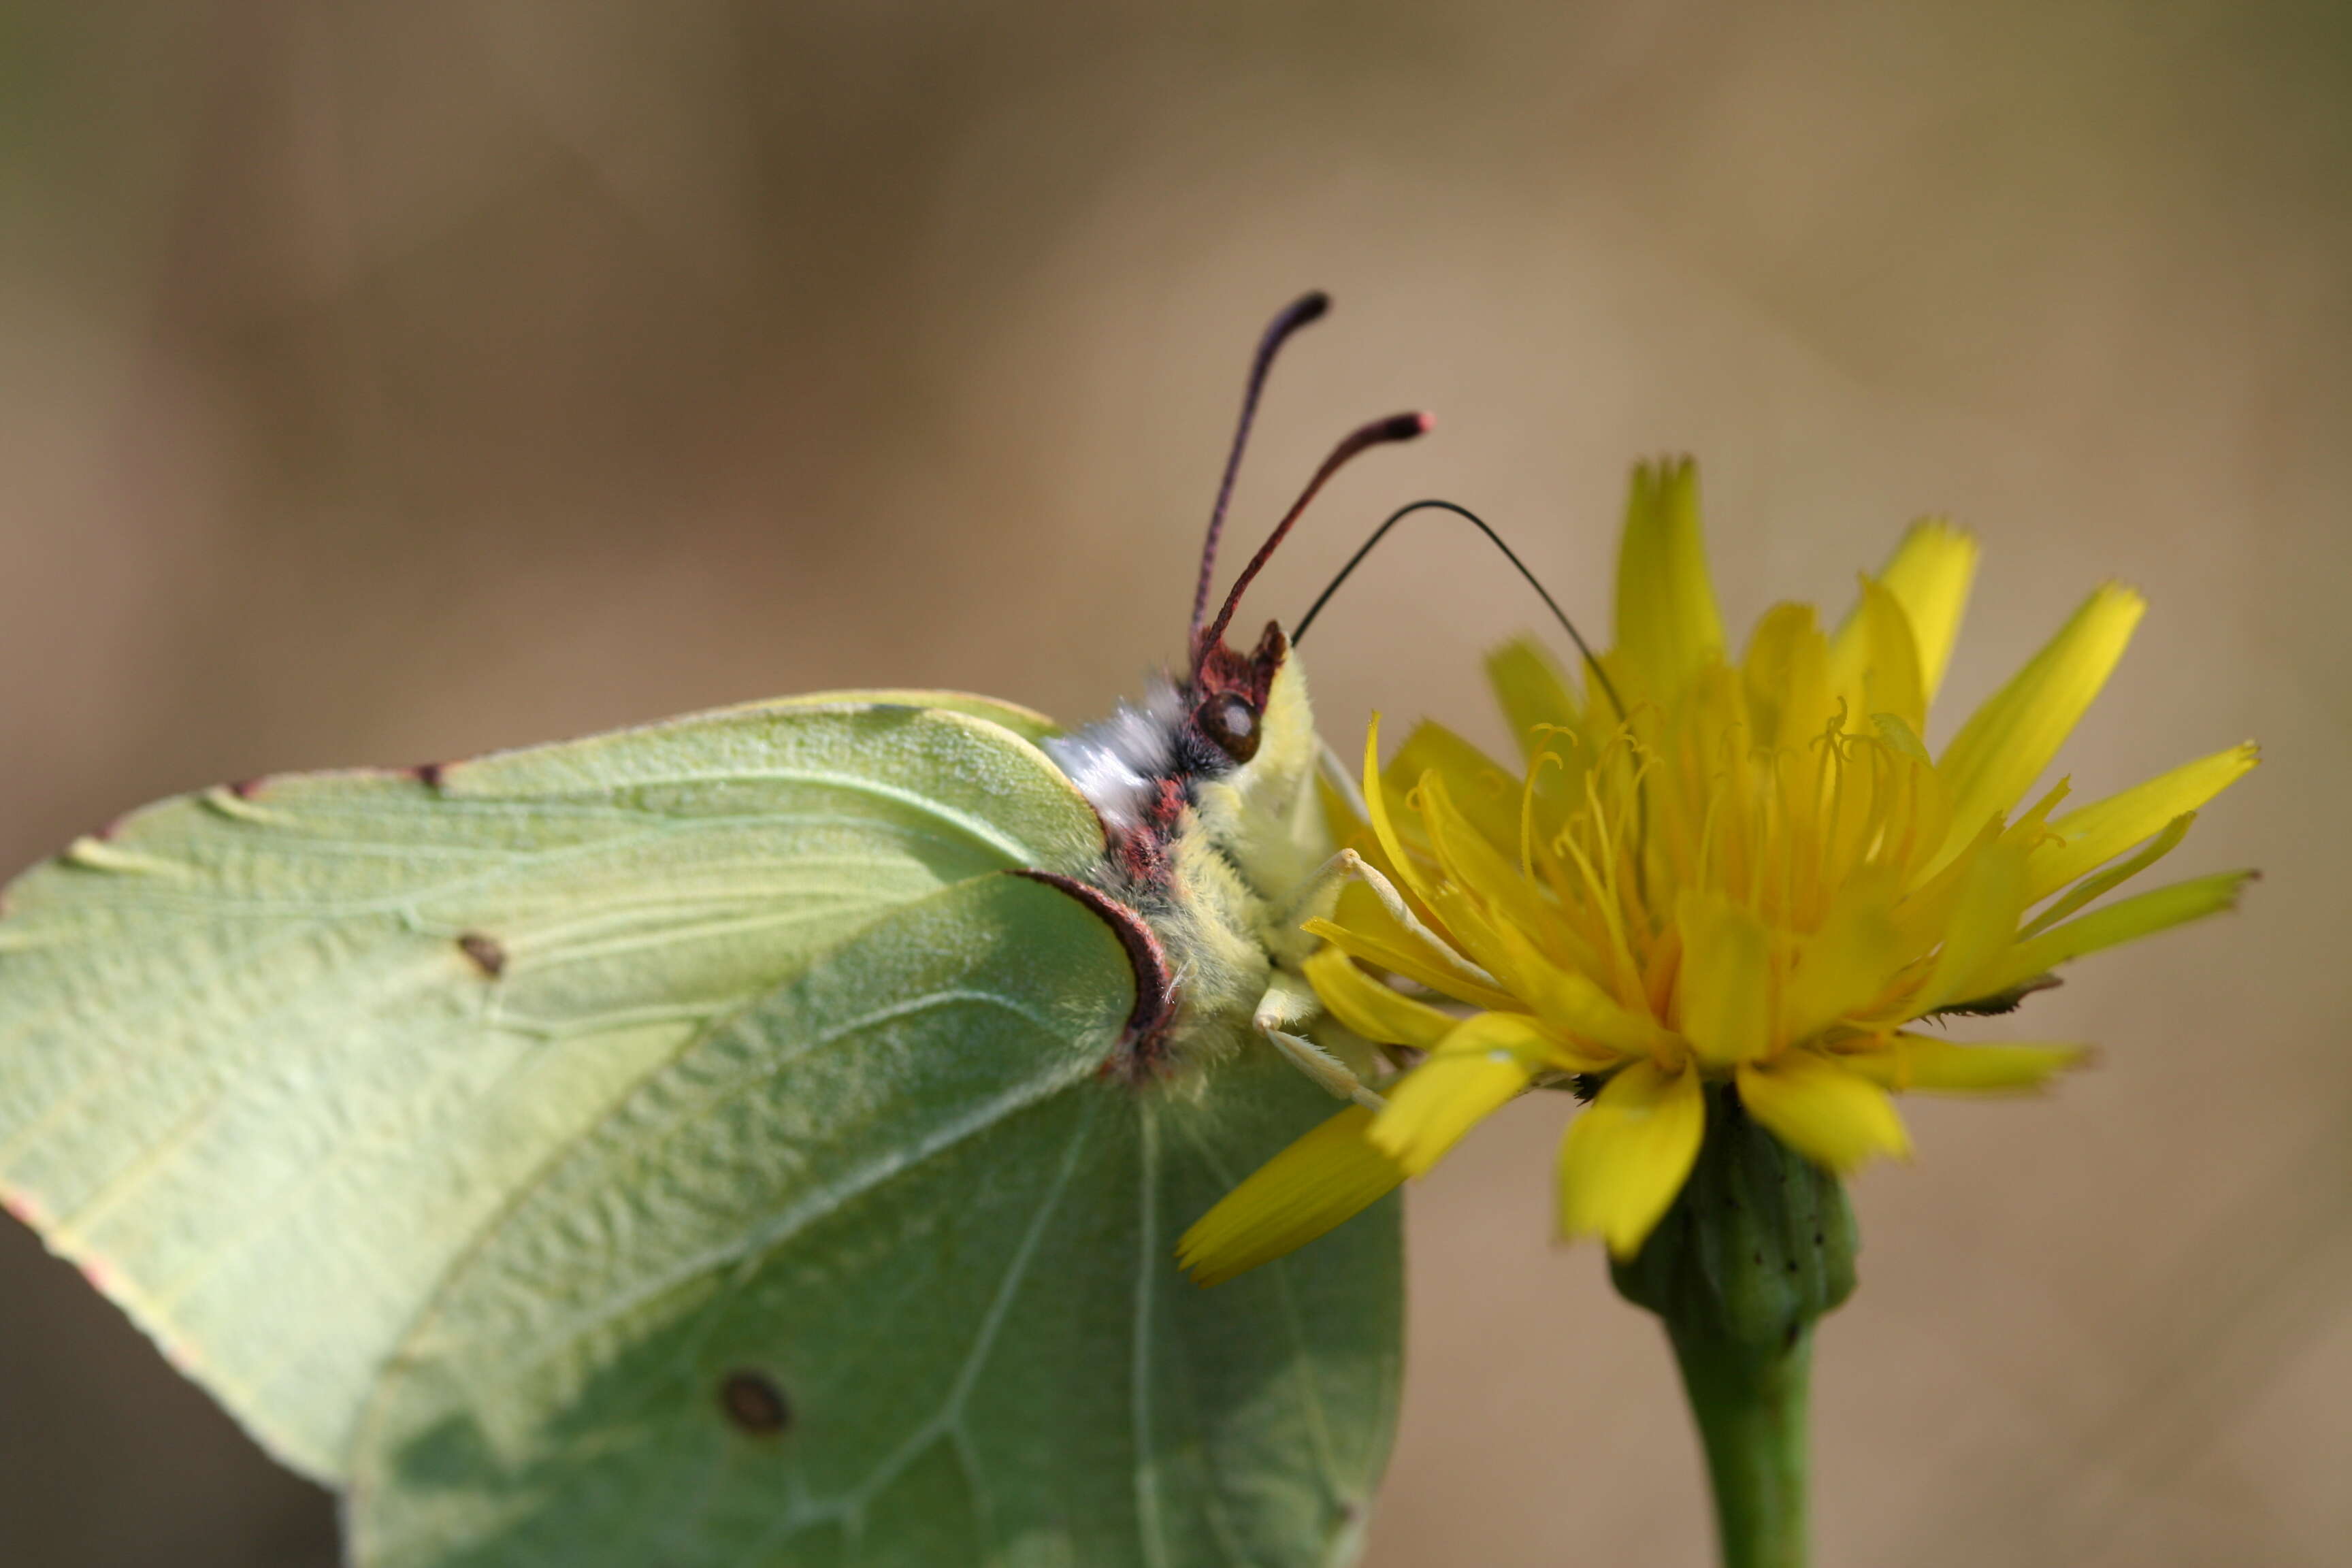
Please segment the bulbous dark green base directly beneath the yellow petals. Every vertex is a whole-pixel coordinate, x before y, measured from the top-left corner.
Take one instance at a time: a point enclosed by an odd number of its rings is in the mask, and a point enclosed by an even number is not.
[[[1729,1084],[1708,1084],[1708,1138],[1618,1295],[1677,1335],[1788,1345],[1853,1295],[1860,1234],[1837,1175],[1766,1133]]]

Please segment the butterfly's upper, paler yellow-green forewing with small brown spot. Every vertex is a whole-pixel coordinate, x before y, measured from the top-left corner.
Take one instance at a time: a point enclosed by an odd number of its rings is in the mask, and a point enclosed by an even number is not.
[[[910,698],[920,701],[920,698]],[[146,809],[0,924],[0,1190],[278,1458],[343,1472],[513,1192],[898,903],[1101,853],[1035,715],[769,703]]]

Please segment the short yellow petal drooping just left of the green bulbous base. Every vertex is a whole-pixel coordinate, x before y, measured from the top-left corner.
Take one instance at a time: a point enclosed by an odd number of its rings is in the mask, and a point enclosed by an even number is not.
[[[1632,1258],[1682,1192],[1705,1131],[1696,1070],[1625,1067],[1559,1143],[1559,1234],[1599,1237]]]

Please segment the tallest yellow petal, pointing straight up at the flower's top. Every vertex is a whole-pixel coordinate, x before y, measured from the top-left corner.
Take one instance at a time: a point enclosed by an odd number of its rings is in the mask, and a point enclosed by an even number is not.
[[[1672,701],[1724,656],[1724,618],[1698,529],[1698,470],[1689,458],[1632,470],[1616,628],[1628,668],[1658,701]]]

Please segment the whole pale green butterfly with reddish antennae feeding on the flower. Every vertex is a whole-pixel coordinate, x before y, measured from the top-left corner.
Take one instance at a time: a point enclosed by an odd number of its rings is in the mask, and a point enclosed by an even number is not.
[[[1331,1114],[1305,675],[1207,618],[1070,733],[837,691],[167,799],[7,889],[0,1194],[367,1568],[1324,1563],[1395,1199],[1216,1291]],[[1301,1074],[1294,1067],[1308,1067]]]

